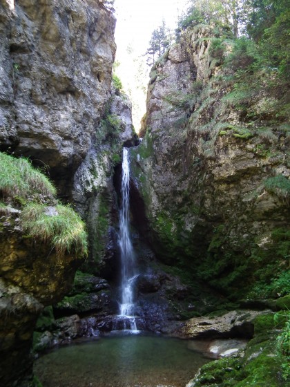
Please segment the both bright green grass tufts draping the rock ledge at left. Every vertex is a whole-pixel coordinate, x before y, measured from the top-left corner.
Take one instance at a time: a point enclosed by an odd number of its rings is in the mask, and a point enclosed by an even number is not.
[[[85,225],[55,198],[56,189],[29,160],[0,153],[1,212],[20,209],[20,225],[30,238],[50,243],[58,254],[87,254]]]

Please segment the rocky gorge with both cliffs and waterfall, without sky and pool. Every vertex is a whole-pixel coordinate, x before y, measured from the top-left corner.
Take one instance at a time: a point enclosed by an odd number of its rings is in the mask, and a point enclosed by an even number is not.
[[[112,82],[106,1],[12,3],[0,0],[1,386],[41,386],[43,350],[124,329],[208,355],[249,341],[184,387],[287,386],[289,83],[228,30],[184,28],[151,70],[141,142]]]

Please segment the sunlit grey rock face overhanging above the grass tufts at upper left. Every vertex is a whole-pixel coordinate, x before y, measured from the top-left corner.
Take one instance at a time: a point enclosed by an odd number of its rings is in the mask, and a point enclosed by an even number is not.
[[[46,164],[68,195],[110,97],[115,18],[99,1],[8,3],[0,3],[1,150]]]

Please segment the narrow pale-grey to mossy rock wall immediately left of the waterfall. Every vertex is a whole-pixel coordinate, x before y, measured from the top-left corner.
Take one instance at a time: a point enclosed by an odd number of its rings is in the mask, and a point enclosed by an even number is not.
[[[117,261],[117,196],[115,167],[120,172],[122,146],[137,141],[132,124],[131,102],[112,86],[97,137],[75,173],[72,198],[89,230],[89,255],[85,272],[112,279]]]

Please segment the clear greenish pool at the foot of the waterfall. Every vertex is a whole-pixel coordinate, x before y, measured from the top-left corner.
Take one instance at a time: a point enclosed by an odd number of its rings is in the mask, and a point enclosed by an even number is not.
[[[118,335],[54,350],[35,375],[43,387],[185,387],[208,361],[186,340]]]

